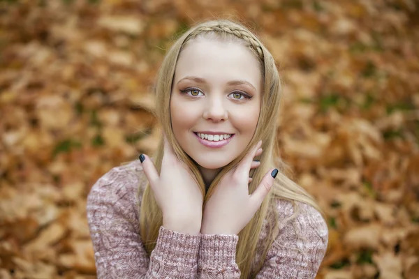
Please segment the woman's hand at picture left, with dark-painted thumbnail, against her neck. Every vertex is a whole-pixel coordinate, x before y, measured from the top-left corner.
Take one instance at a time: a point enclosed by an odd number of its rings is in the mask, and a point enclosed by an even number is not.
[[[145,176],[163,213],[163,227],[175,232],[199,234],[203,215],[203,195],[193,174],[179,161],[164,140],[160,176],[148,156],[140,155]]]

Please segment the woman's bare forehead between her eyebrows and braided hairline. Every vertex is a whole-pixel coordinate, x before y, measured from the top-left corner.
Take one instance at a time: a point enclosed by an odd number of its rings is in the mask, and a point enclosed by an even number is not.
[[[189,42],[179,54],[175,82],[189,75],[210,82],[246,80],[258,90],[262,80],[259,61],[246,46],[207,39]]]

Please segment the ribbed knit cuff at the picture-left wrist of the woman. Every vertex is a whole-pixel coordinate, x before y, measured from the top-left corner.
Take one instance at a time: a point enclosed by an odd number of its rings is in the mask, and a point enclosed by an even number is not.
[[[153,256],[168,264],[196,265],[200,235],[173,232],[161,226]]]

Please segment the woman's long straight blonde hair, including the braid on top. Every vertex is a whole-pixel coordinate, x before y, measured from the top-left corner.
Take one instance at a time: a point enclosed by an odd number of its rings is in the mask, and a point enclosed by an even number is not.
[[[172,91],[172,82],[177,59],[187,43],[191,43],[193,40],[200,37],[233,40],[249,47],[249,50],[251,50],[260,62],[260,70],[262,72],[264,84],[260,116],[251,142],[240,156],[223,167],[214,181],[212,181],[207,193],[205,193],[203,177],[201,176],[196,163],[183,151],[175,139],[170,120],[170,94]],[[214,188],[219,184],[222,176],[237,166],[242,158],[244,158],[245,154],[247,154],[252,146],[259,140],[263,140],[263,154],[260,156],[260,166],[253,172],[253,181],[249,184],[249,193],[253,193],[263,178],[263,175],[270,168],[277,167],[279,169],[279,173],[270,194],[265,198],[260,209],[256,212],[255,216],[253,216],[249,224],[247,224],[239,233],[239,241],[236,249],[236,262],[241,271],[240,278],[253,278],[263,266],[267,250],[274,241],[274,232],[277,231],[279,225],[277,222],[279,218],[277,215],[277,199],[287,199],[288,201],[293,202],[295,211],[292,217],[295,217],[298,213],[298,206],[295,201],[314,206],[315,209],[321,212],[321,209],[316,204],[313,197],[311,197],[303,188],[291,181],[291,179],[288,179],[284,174],[284,165],[281,160],[275,160],[275,158],[279,158],[279,149],[276,145],[276,121],[281,98],[281,82],[272,55],[260,40],[241,24],[229,20],[203,22],[189,29],[189,31],[186,31],[186,33],[177,39],[172,47],[170,47],[157,75],[155,93],[156,103],[159,104],[156,106],[156,116],[157,119],[159,119],[163,133],[166,134],[168,142],[170,142],[179,160],[182,160],[191,169],[191,173],[195,176],[203,193],[204,204],[211,197]],[[163,140],[160,141],[153,159],[158,172],[161,170],[162,158]],[[142,191],[144,193],[142,193]],[[150,255],[156,246],[156,239],[159,235],[159,228],[163,222],[163,216],[154,199],[149,184],[147,184],[144,190],[142,187],[139,187],[138,194],[142,194],[142,202],[138,209],[140,213],[140,236],[143,243],[145,243],[148,255]],[[256,270],[252,271],[252,260],[255,259],[256,246],[263,226],[263,220],[272,218],[275,220],[274,227],[270,227],[269,232],[267,232],[268,241],[264,241],[263,243],[265,244],[263,247],[263,255],[260,257],[259,262],[256,263]]]

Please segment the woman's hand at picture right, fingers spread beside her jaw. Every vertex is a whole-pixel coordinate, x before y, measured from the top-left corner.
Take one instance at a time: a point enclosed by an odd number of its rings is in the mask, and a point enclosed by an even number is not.
[[[259,141],[237,168],[223,176],[216,186],[205,204],[201,234],[239,234],[253,218],[278,172],[277,169],[267,172],[258,188],[249,195],[249,171],[252,164],[255,165],[253,158],[261,153],[261,145],[262,141]]]

